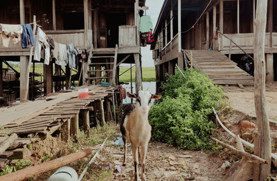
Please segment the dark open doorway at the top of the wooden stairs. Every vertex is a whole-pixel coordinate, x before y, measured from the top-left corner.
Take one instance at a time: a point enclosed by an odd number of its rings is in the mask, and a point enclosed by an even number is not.
[[[114,48],[118,44],[118,26],[127,24],[124,13],[108,13],[107,18],[107,47]]]

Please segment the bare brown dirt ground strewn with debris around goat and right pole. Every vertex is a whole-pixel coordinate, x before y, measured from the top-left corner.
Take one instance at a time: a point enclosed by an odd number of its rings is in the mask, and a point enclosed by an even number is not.
[[[232,108],[219,113],[220,119],[233,133],[241,135],[244,140],[253,142],[256,120],[248,116],[248,114],[253,114],[253,110],[255,110],[253,86],[245,86],[245,88],[222,86],[222,89],[229,97]],[[277,118],[276,93],[277,84],[267,84],[267,102],[271,119]],[[213,134],[218,139],[235,146],[235,140],[223,128],[217,127],[213,130]],[[78,149],[91,147],[93,154],[89,158],[83,158],[69,165],[80,175],[107,135],[109,138],[104,149],[89,166],[83,180],[132,180],[134,172],[132,151],[129,145],[127,166],[120,166],[123,162],[123,146],[114,142],[116,137],[120,137],[119,127],[115,124],[93,129],[89,137],[82,133],[77,139],[68,142],[61,141],[58,136],[48,137],[46,140],[28,146],[32,151],[28,160],[31,160],[32,165],[39,164],[59,158],[62,155],[68,155]],[[277,126],[274,124],[271,124],[271,137],[273,138],[272,149],[277,152]],[[244,149],[249,153],[253,152],[253,149],[247,147]],[[240,160],[238,156],[220,146],[209,152],[186,151],[178,150],[168,144],[150,142],[145,175],[147,180],[224,180],[224,175],[228,172],[231,164],[238,160]],[[226,162],[228,166],[224,166]],[[54,171],[48,171],[38,175],[33,180],[47,180],[53,173]]]

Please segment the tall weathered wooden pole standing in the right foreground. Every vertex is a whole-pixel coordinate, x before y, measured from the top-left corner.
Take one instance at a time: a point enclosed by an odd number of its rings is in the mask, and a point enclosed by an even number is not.
[[[267,23],[267,0],[257,1],[255,46],[254,46],[254,77],[255,77],[255,109],[258,133],[254,141],[254,153],[267,160],[269,164],[253,166],[253,180],[265,180],[271,168],[271,142],[267,106],[265,102],[265,28]]]

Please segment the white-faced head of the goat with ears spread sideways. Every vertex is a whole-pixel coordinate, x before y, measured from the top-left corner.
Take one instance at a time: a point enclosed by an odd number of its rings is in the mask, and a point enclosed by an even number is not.
[[[129,98],[134,98],[136,99],[136,106],[138,106],[139,111],[141,111],[141,113],[148,113],[148,111],[150,110],[151,107],[151,99],[160,99],[161,95],[153,95],[150,93],[150,90],[148,88],[148,90],[141,90],[141,88],[139,89],[139,94],[131,94],[131,93],[127,93],[127,96]]]

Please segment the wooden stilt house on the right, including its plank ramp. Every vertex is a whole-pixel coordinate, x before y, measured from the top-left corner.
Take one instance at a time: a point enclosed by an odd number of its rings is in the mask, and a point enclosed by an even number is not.
[[[253,57],[255,14],[256,0],[165,0],[151,46],[157,90],[165,73],[174,74],[175,64],[184,69],[192,63],[215,84],[253,84],[253,76],[241,68],[245,56]],[[276,20],[277,2],[269,0],[267,82],[277,80]],[[247,66],[253,66],[251,61]]]

